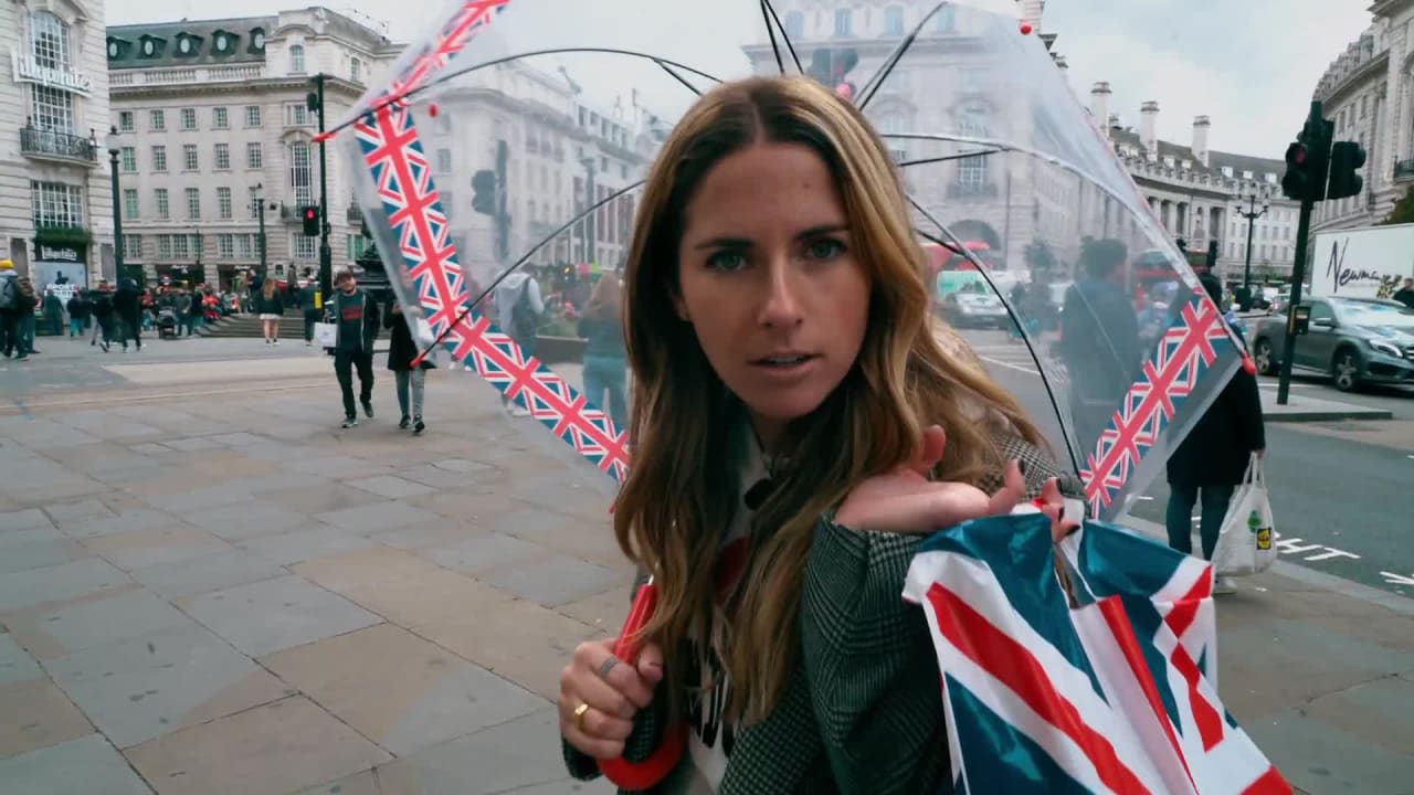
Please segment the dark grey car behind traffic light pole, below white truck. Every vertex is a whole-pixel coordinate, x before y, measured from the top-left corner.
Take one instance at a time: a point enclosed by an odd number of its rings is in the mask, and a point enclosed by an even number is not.
[[[1414,385],[1414,310],[1379,298],[1302,298],[1311,308],[1307,334],[1297,337],[1292,369],[1321,372],[1342,392],[1365,383]],[[1261,318],[1251,335],[1257,369],[1273,375],[1284,358],[1287,318]]]

